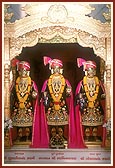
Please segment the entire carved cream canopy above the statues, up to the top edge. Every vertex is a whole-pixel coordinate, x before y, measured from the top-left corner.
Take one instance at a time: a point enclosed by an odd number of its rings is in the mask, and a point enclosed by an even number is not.
[[[93,48],[97,56],[106,59],[105,38],[109,43],[111,24],[99,18],[104,19],[102,14],[107,14],[108,7],[83,2],[6,4],[4,37],[10,38],[10,57],[19,55],[23,47],[37,43],[77,42]]]

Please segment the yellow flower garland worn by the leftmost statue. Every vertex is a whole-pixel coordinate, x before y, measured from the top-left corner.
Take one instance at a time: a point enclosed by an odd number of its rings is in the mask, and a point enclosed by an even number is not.
[[[31,90],[31,78],[27,77],[26,79],[28,81],[28,87],[27,87],[27,89],[25,91],[25,96],[24,97],[20,96],[21,91],[19,90],[19,83],[20,83],[21,78],[18,77],[17,80],[16,80],[16,94],[17,94],[18,100],[20,102],[20,104],[19,104],[20,108],[25,108],[24,103],[27,100],[28,95],[29,95],[30,90]]]

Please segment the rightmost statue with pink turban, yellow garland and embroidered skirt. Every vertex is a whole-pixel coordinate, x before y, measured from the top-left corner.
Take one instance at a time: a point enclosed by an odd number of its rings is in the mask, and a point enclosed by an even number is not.
[[[81,129],[87,142],[102,142],[105,131],[105,89],[96,75],[96,63],[77,58],[78,67],[83,67],[85,75],[78,83],[75,93],[75,113],[81,116]]]

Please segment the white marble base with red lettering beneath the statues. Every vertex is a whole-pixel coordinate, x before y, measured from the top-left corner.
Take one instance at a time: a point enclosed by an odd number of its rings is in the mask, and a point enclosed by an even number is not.
[[[110,149],[89,146],[88,149],[36,149],[13,146],[4,150],[4,165],[112,165]]]

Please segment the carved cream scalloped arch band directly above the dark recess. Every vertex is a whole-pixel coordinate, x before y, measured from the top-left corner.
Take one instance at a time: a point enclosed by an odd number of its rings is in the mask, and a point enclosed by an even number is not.
[[[105,58],[105,39],[97,38],[87,32],[75,28],[52,26],[39,28],[28,32],[18,38],[10,40],[11,59],[19,55],[22,47],[34,46],[37,43],[75,43],[78,42],[83,47],[93,48],[95,54],[104,60]]]

